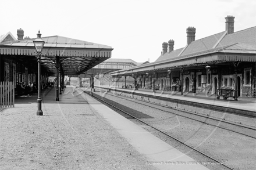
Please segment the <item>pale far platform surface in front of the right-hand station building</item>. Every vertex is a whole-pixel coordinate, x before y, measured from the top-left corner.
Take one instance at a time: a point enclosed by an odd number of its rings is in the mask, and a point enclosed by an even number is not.
[[[147,94],[152,96],[161,96],[161,97],[167,97],[172,99],[186,100],[190,102],[212,104],[215,106],[239,108],[242,110],[255,111],[256,113],[256,98],[239,97],[238,101],[235,101],[233,98],[228,98],[227,100],[223,100],[223,98],[220,97],[220,99],[216,99],[216,95],[209,95],[204,93],[183,93],[183,95],[181,95],[180,92],[174,92],[174,91],[158,90],[154,93],[150,89],[138,89],[134,91],[134,89],[123,89],[123,88],[118,88],[116,86],[102,86],[102,87],[119,89],[127,92],[142,93],[142,94]]]

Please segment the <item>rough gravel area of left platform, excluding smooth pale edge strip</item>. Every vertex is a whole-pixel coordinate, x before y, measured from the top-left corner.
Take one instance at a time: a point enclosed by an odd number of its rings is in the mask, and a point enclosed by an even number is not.
[[[35,94],[1,110],[1,170],[156,169],[86,101],[70,97],[67,90],[63,102],[55,102],[54,96],[43,100],[44,116],[35,115]],[[51,93],[55,95],[44,95]]]

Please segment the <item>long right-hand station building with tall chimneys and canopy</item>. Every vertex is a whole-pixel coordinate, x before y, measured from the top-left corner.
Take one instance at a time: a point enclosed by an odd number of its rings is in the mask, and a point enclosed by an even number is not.
[[[233,89],[237,97],[255,89],[256,27],[234,32],[234,16],[225,17],[225,30],[195,40],[188,27],[187,45],[175,49],[170,39],[153,63],[111,73],[132,76],[136,88],[214,95],[218,89]]]

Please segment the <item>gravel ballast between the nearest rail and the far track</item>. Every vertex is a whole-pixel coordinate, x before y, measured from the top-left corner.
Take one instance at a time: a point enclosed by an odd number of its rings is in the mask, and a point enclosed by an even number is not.
[[[130,107],[132,110],[136,110],[137,113],[135,114],[144,115],[144,118],[142,118],[144,121],[186,142],[190,146],[197,147],[203,153],[219,161],[224,161],[229,167],[234,169],[255,168],[256,146],[253,138],[216,128],[212,125],[202,124],[166,111],[136,104],[140,103],[138,100],[130,102],[130,99],[122,96],[112,96],[101,92],[97,92],[97,94],[116,101],[126,108]]]

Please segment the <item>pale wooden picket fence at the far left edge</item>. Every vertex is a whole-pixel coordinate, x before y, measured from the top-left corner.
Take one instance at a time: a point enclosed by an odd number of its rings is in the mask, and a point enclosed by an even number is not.
[[[0,82],[0,108],[14,107],[15,89],[13,82]]]

